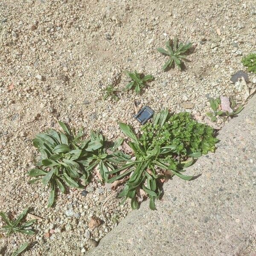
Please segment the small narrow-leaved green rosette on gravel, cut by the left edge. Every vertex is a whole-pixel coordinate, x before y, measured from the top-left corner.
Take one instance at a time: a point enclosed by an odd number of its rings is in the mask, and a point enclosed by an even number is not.
[[[0,231],[1,232],[7,232],[7,236],[11,235],[14,232],[23,233],[26,235],[33,235],[35,232],[33,230],[27,229],[30,227],[33,223],[36,222],[36,220],[30,220],[27,221],[25,224],[21,224],[23,221],[23,218],[26,216],[28,211],[28,208],[26,208],[16,220],[11,220],[8,218],[8,216],[4,212],[0,212],[0,216],[3,218],[3,221],[6,223]]]

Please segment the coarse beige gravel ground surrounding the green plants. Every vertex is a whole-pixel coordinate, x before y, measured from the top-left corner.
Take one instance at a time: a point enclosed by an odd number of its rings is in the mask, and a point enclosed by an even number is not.
[[[241,58],[256,49],[255,20],[255,0],[0,0],[0,210],[16,216],[31,207],[43,218],[35,236],[0,239],[0,253],[31,241],[24,255],[84,255],[130,210],[125,204],[103,219],[111,191],[96,180],[88,193],[70,189],[47,209],[47,187],[27,183],[35,134],[62,120],[114,139],[121,135],[117,121],[138,131],[134,101],[173,112],[184,111],[186,102],[201,120],[209,96],[243,103],[255,76],[248,74],[247,85],[230,78],[245,71]],[[190,62],[181,72],[162,72],[166,57],[156,48],[175,35],[193,42]],[[103,101],[102,89],[113,82],[121,90],[124,71],[134,69],[155,80],[140,96],[120,92],[119,102]],[[101,220],[98,227],[90,225],[92,217]]]

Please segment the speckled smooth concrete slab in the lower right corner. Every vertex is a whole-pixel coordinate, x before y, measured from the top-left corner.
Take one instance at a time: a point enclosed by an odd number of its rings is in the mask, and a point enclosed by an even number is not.
[[[174,177],[156,211],[144,202],[87,255],[255,255],[250,247],[256,239],[256,97],[218,138],[215,154],[186,172],[200,177]]]

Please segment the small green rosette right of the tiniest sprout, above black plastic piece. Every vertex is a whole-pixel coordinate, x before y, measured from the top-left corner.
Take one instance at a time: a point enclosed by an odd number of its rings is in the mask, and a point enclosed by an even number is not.
[[[132,81],[126,85],[125,90],[131,90],[131,88],[134,88],[134,91],[137,94],[139,94],[141,88],[145,86],[146,81],[154,79],[154,77],[151,75],[141,77],[141,75],[136,70],[133,73],[127,72],[127,75],[131,78]]]

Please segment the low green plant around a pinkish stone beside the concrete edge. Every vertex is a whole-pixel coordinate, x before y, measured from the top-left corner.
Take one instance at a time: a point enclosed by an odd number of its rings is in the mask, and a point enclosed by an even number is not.
[[[239,114],[244,109],[243,106],[239,106],[233,112],[221,111],[221,99],[220,98],[210,99],[209,103],[210,103],[210,106],[211,106],[213,112],[207,112],[206,115],[211,118],[212,122],[217,121],[217,116],[235,116],[235,115]],[[230,107],[232,109],[235,108],[236,102],[232,100]]]

